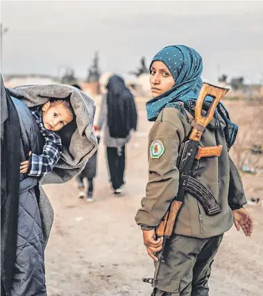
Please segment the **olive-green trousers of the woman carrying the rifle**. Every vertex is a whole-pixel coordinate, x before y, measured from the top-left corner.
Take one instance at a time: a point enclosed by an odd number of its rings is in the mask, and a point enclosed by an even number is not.
[[[208,296],[211,266],[222,238],[223,234],[210,238],[173,234],[151,296]]]

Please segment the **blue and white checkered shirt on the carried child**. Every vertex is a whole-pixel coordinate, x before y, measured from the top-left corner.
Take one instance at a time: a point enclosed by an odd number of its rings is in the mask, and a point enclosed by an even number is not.
[[[53,166],[58,162],[60,153],[62,151],[62,143],[60,136],[56,132],[46,130],[42,122],[42,106],[30,108],[31,114],[37,121],[37,125],[40,128],[40,133],[44,140],[43,151],[41,155],[34,153],[29,157],[28,175],[44,176],[50,173]]]

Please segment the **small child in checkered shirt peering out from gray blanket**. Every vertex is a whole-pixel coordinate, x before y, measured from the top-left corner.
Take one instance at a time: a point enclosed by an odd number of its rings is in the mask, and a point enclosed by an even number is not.
[[[74,119],[74,112],[68,100],[50,100],[29,109],[40,128],[44,145],[41,155],[29,153],[29,159],[21,163],[20,173],[44,176],[52,171],[62,151],[61,139],[56,132]]]

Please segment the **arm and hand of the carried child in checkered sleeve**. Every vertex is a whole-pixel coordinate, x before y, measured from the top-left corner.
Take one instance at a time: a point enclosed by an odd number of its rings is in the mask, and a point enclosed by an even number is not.
[[[28,175],[44,176],[53,170],[53,166],[60,158],[62,143],[60,137],[55,134],[49,134],[45,137],[43,152],[41,155],[31,153],[27,162],[22,162],[20,166],[21,173],[28,172]],[[26,170],[26,172],[25,172]]]

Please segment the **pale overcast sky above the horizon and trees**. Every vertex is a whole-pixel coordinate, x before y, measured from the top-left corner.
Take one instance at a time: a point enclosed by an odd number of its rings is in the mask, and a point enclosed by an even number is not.
[[[203,77],[263,79],[263,2],[1,1],[2,73],[87,76],[94,51],[101,71],[128,73],[164,46],[185,44],[203,57]]]

